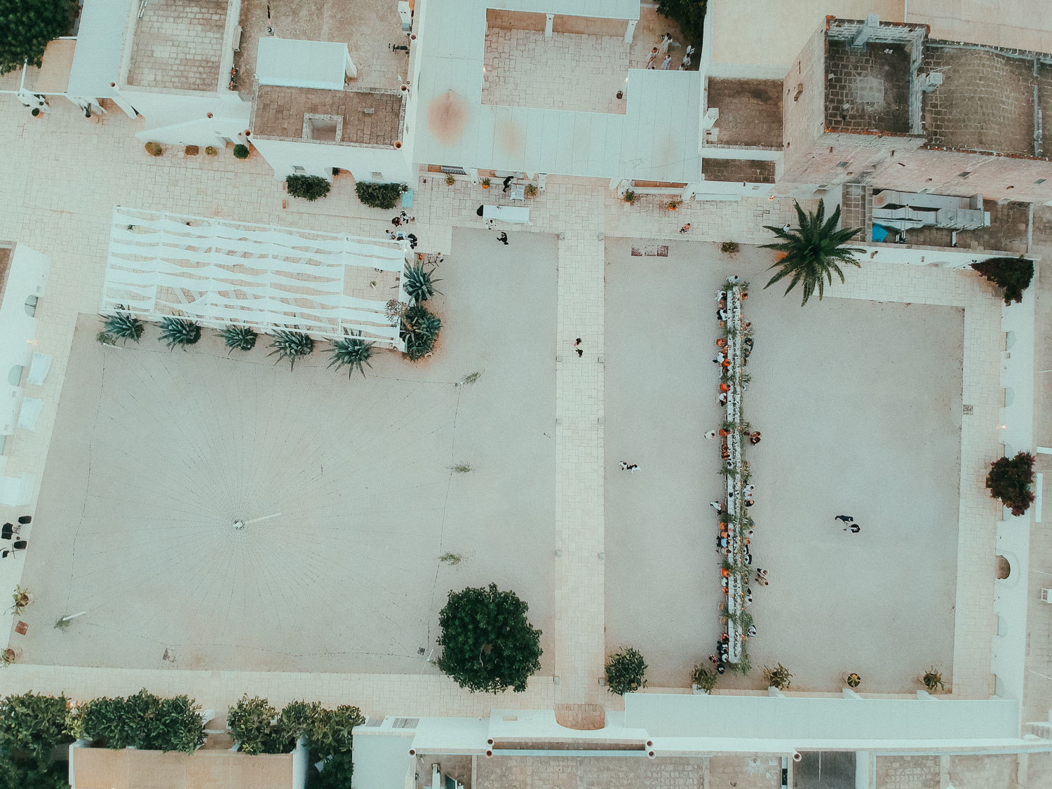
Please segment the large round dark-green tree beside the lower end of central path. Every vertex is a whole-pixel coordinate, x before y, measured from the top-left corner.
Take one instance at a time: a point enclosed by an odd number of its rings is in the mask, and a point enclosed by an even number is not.
[[[526,619],[527,610],[514,592],[500,591],[497,584],[449,592],[439,612],[438,667],[471,691],[523,692],[541,668],[541,631]]]

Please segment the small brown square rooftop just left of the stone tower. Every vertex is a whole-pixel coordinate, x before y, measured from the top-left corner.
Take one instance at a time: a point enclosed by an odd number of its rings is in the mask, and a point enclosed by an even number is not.
[[[709,79],[708,108],[716,107],[719,132],[706,142],[782,148],[782,81]],[[714,139],[708,139],[714,138]]]

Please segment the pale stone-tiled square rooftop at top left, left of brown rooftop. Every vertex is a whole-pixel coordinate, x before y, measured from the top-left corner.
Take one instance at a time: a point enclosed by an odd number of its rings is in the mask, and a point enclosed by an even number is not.
[[[215,90],[227,0],[150,0],[132,33],[125,82],[136,87]]]

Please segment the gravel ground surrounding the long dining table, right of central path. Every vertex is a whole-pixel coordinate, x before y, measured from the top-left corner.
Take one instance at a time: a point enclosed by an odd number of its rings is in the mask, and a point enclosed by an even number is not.
[[[952,675],[960,465],[960,309],[763,290],[766,250],[714,244],[629,256],[607,240],[607,645],[638,646],[651,685],[684,686],[720,633],[708,502],[721,490],[714,294],[751,279],[746,418],[763,431],[756,485],[753,673],[783,663],[801,690],[903,692]],[[835,291],[832,291],[835,292]],[[638,463],[625,473],[618,462]],[[836,514],[853,515],[858,534]]]

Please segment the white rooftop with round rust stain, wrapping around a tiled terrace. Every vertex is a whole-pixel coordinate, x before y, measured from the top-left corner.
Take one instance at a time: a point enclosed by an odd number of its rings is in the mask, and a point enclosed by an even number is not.
[[[697,181],[702,93],[697,72],[630,69],[626,114],[495,106],[482,103],[486,7],[631,19],[639,3],[566,0],[542,7],[533,0],[430,0],[421,27],[416,86],[419,162],[497,170],[558,173],[592,178]],[[450,93],[451,92],[451,93]],[[462,103],[463,133],[443,141],[428,128],[433,102]],[[674,119],[655,123],[654,119]]]

